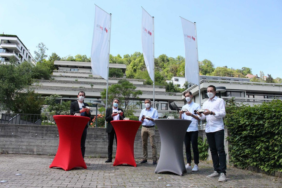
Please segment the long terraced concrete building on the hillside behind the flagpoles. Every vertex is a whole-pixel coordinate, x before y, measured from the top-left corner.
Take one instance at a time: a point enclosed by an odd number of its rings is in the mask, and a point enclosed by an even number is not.
[[[38,80],[39,84],[34,85],[36,92],[43,96],[60,94],[63,96],[63,98],[58,99],[58,102],[60,102],[67,100],[76,101],[77,93],[83,90],[86,92],[86,103],[91,104],[94,100],[101,100],[100,92],[106,88],[107,83],[100,76],[92,75],[90,62],[55,61],[54,65],[56,65],[58,70],[53,71],[51,80]],[[126,65],[124,64],[110,64],[109,67],[121,68],[124,73],[126,69]],[[178,81],[185,80],[184,77],[174,78],[179,78]],[[116,84],[121,79],[124,78],[109,78],[109,86]],[[137,90],[143,92],[139,96],[140,99],[132,99],[133,102],[144,102],[146,98],[153,99],[152,85],[144,85],[143,80],[140,79],[127,80],[133,83],[137,87]],[[254,105],[273,99],[282,99],[282,84],[250,82],[249,78],[200,76],[201,104],[208,99],[206,90],[209,85],[223,87],[223,89],[217,90],[217,95],[220,95],[223,99],[235,97],[235,101],[239,103],[243,102]],[[198,85],[188,83],[188,87],[188,90],[191,90],[193,96],[195,96],[194,102],[199,103]],[[155,108],[158,110],[160,116],[165,112],[173,112],[169,108],[169,104],[173,102],[180,108],[186,104],[182,93],[166,92],[164,86],[155,86]],[[144,103],[138,107],[135,115],[139,116],[143,108],[145,108]]]

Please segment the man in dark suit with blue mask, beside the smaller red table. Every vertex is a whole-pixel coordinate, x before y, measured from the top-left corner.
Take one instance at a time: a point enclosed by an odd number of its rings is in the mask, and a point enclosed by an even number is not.
[[[124,114],[123,110],[118,108],[118,104],[120,103],[120,100],[117,98],[114,98],[113,100],[113,107],[108,108],[106,110],[106,116],[105,119],[108,122],[107,125],[107,130],[106,132],[108,133],[108,159],[105,161],[105,163],[110,163],[113,160],[113,143],[114,143],[114,137],[116,138],[116,132],[114,131],[113,125],[111,124],[111,121],[113,120],[123,120],[124,119]],[[120,114],[115,113],[118,110],[121,110],[122,112]],[[117,140],[116,140],[117,144]]]

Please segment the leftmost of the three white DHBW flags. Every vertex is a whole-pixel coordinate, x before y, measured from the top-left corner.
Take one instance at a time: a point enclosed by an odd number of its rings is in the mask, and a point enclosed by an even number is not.
[[[95,6],[94,30],[91,47],[92,74],[108,78],[110,14]]]

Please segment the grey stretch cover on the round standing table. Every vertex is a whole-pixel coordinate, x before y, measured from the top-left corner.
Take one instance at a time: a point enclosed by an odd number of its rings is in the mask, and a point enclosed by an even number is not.
[[[158,119],[154,121],[160,133],[160,158],[155,173],[173,172],[182,176],[186,172],[183,142],[192,122],[183,119]]]

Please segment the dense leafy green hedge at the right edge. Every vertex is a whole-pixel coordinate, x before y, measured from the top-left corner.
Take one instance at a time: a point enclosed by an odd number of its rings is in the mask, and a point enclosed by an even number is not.
[[[224,123],[230,132],[231,162],[242,168],[282,172],[282,101],[261,105],[226,102]]]

